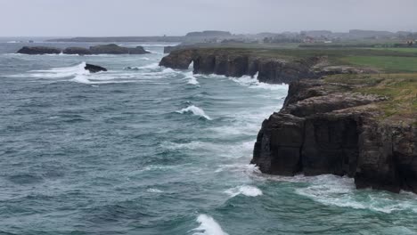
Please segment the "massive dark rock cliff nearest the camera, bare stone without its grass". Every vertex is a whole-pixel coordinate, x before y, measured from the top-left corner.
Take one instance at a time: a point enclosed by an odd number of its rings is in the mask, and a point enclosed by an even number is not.
[[[266,174],[348,175],[358,189],[417,193],[417,127],[380,118],[387,98],[356,93],[362,86],[291,83],[282,109],[263,122],[251,163]]]

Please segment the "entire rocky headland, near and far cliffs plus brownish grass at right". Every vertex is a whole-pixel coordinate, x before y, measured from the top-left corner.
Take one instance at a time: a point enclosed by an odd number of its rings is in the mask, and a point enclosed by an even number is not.
[[[331,60],[335,60],[332,58]],[[417,76],[343,66],[327,56],[179,49],[159,65],[290,84],[258,133],[252,164],[265,174],[337,174],[358,189],[417,193]]]

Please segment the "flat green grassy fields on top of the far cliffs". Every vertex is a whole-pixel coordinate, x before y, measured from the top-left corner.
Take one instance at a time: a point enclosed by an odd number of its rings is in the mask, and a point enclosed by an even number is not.
[[[259,57],[297,60],[312,56],[327,56],[329,65],[347,65],[377,69],[381,73],[417,72],[417,48],[298,48],[293,45],[195,45],[201,51],[226,51]]]

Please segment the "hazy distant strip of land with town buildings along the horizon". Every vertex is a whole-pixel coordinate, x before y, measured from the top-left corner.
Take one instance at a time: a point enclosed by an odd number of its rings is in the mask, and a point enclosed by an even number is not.
[[[397,44],[390,46],[415,46],[417,32],[375,31],[351,29],[348,32],[329,30],[310,30],[300,32],[233,34],[228,31],[206,30],[190,32],[185,36],[110,36],[110,37],[71,37],[50,39],[51,42],[179,42],[193,43],[243,43],[243,44],[340,44],[355,42],[377,42]],[[369,45],[367,45],[369,46]]]

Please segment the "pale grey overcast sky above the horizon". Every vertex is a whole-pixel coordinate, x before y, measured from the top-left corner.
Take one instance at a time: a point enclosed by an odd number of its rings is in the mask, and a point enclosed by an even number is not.
[[[0,0],[0,36],[417,31],[417,0]]]

